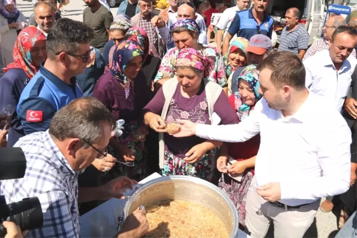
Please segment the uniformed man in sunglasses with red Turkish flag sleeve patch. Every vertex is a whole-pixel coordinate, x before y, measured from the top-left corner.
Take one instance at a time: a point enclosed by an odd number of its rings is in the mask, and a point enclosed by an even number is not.
[[[93,31],[82,22],[62,18],[47,36],[47,59],[21,93],[18,119],[25,135],[46,131],[60,108],[82,97],[75,76],[90,62]]]

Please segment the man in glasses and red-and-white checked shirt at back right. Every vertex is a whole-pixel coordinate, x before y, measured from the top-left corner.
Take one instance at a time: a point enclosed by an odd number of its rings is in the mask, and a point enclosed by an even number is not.
[[[306,51],[306,54],[302,58],[302,61],[306,60],[308,57],[315,55],[319,51],[330,49],[328,39],[331,38],[333,32],[338,26],[346,26],[346,21],[342,16],[332,16],[330,17],[323,27],[323,37],[317,39]],[[356,50],[352,51],[353,57],[356,57]]]

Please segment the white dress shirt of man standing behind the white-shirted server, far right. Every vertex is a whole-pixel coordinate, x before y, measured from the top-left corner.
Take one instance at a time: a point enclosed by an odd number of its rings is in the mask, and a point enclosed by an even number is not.
[[[351,54],[338,72],[328,50],[308,57],[303,64],[306,69],[306,87],[310,92],[322,96],[324,103],[334,105],[341,112],[351,85],[351,75],[357,64],[355,57]]]

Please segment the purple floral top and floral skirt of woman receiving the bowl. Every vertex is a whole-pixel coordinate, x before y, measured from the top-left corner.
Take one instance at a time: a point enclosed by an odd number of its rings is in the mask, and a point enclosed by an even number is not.
[[[150,111],[157,115],[161,114],[165,96],[162,88],[156,93],[155,97],[145,106],[145,111]],[[218,97],[213,111],[221,118],[222,125],[234,124],[239,122],[237,115],[228,102],[228,98],[222,91]],[[206,91],[202,82],[200,90],[193,97],[183,97],[180,91],[180,84],[172,96],[170,105],[165,118],[166,123],[175,122],[178,119],[190,120],[195,123],[211,124],[208,114],[208,104],[206,100]],[[189,175],[195,176],[207,181],[213,180],[212,161],[215,156],[215,150],[207,151],[201,159],[195,163],[187,163],[185,154],[192,147],[206,141],[206,139],[190,136],[177,138],[164,133],[165,151],[164,167],[162,175]]]

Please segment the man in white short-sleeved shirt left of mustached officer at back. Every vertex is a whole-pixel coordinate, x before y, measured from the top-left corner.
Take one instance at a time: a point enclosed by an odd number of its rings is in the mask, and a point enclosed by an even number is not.
[[[249,5],[249,0],[237,0],[237,5],[227,8],[223,11],[220,20],[217,23],[217,32],[216,32],[216,40],[217,40],[217,50],[222,53],[222,40],[223,37],[226,36],[228,28],[230,27],[233,17],[236,15],[237,11],[247,10]],[[224,31],[224,34],[222,33]],[[232,40],[236,38],[237,35],[232,37]],[[231,41],[232,41],[231,40]]]

